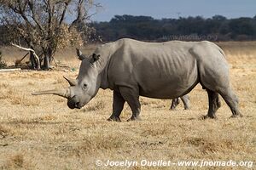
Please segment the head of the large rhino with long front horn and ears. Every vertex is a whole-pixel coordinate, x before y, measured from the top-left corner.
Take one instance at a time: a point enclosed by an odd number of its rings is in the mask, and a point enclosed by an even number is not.
[[[100,55],[92,54],[90,57],[85,57],[79,49],[77,49],[77,54],[82,60],[79,76],[75,80],[64,77],[70,85],[69,88],[40,91],[33,93],[33,95],[59,95],[67,99],[67,105],[70,109],[80,109],[86,105],[97,94],[101,86],[101,77],[96,65]]]

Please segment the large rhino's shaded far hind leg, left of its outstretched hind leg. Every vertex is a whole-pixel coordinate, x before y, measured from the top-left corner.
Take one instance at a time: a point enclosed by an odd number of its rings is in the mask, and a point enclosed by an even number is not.
[[[220,101],[219,101],[219,97],[218,97],[218,93],[217,92],[213,92],[210,89],[207,89],[207,94],[208,94],[208,113],[207,116],[204,116],[203,118],[216,118],[216,111],[218,110],[218,108],[220,107]]]

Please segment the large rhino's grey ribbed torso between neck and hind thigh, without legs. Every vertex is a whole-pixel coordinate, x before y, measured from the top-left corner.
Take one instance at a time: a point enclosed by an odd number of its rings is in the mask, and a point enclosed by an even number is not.
[[[110,88],[140,88],[140,95],[170,99],[189,92],[197,82],[195,42],[138,42],[123,39],[108,66]]]

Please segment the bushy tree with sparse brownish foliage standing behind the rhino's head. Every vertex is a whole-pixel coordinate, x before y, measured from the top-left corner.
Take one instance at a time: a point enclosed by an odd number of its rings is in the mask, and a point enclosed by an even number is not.
[[[12,42],[25,42],[38,53],[40,62],[32,67],[43,63],[48,70],[58,48],[81,45],[88,37],[89,12],[99,6],[93,0],[0,0],[0,21]]]

